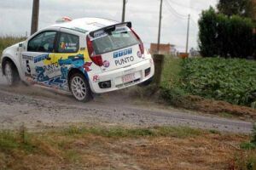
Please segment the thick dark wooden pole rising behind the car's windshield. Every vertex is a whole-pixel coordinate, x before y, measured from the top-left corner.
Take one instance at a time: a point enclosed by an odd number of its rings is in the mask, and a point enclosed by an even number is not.
[[[39,0],[33,0],[31,35],[38,31]]]

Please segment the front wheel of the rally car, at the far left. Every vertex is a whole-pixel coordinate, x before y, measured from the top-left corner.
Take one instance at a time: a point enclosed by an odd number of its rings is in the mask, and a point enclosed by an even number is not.
[[[20,82],[20,75],[15,66],[15,64],[9,60],[3,65],[4,75],[6,77],[7,83],[9,86],[17,85],[17,82]]]

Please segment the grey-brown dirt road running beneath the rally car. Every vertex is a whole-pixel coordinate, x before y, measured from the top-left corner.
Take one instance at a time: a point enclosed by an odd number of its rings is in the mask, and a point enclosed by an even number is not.
[[[90,103],[80,103],[68,94],[34,86],[9,88],[0,78],[0,128],[58,127],[80,123],[125,127],[189,126],[232,133],[250,133],[251,122],[201,116],[189,111],[159,109],[154,103],[134,105],[127,92],[102,94]],[[138,99],[137,99],[138,100]],[[142,103],[142,102],[140,102]]]

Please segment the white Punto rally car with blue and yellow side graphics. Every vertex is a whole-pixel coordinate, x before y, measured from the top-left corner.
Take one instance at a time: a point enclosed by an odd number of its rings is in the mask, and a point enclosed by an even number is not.
[[[71,91],[80,101],[148,82],[154,62],[131,22],[99,18],[67,20],[49,26],[3,51],[9,85],[20,79]]]

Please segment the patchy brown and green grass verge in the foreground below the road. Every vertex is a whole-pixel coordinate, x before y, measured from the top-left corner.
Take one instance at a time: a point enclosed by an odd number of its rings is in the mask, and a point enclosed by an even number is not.
[[[248,136],[189,127],[20,132],[0,133],[0,169],[226,169],[249,154],[239,149]]]

